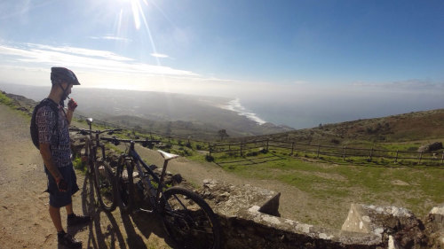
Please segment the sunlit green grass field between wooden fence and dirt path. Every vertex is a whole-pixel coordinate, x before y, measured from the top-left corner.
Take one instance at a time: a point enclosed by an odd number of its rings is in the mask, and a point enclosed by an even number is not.
[[[235,175],[273,179],[294,186],[320,206],[338,203],[403,206],[423,218],[433,206],[444,202],[444,167],[356,165],[294,158],[279,152],[245,158],[218,157],[216,154],[215,162]],[[338,218],[329,225],[338,228],[342,222],[343,218]]]

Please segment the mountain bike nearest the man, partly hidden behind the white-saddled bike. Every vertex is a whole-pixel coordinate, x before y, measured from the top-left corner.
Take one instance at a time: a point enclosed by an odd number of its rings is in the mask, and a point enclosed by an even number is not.
[[[90,128],[69,128],[85,136],[83,161],[87,165],[87,174],[92,176],[100,206],[103,210],[111,212],[117,206],[117,191],[114,173],[106,161],[105,145],[100,143],[100,135],[107,133],[112,135],[121,128],[92,130],[92,119],[86,119]],[[99,155],[99,156],[98,156]]]

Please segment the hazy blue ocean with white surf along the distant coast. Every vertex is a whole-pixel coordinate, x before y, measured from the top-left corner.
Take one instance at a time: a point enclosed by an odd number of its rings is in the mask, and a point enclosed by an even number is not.
[[[274,100],[234,97],[224,106],[259,124],[266,122],[291,128],[357,121],[444,108],[442,98],[422,94],[329,96],[313,99]]]

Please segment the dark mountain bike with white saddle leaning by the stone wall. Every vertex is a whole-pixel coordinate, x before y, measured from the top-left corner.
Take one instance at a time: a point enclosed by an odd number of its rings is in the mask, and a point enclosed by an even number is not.
[[[139,174],[139,187],[149,209],[138,207],[135,211],[157,214],[163,220],[163,227],[179,248],[218,249],[221,246],[221,229],[216,214],[210,206],[193,191],[164,183],[168,162],[178,155],[158,151],[163,156],[160,177],[140,158],[135,144],[147,141],[134,141],[116,138],[102,138],[113,144],[129,144],[127,152],[119,159],[116,170],[116,183],[119,205],[123,212],[136,209],[134,202],[135,185],[133,170]]]

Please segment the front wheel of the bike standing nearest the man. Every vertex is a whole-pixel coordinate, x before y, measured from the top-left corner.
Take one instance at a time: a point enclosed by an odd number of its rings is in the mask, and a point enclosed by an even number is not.
[[[107,162],[98,160],[94,165],[94,175],[100,206],[107,212],[114,211],[117,205],[117,193],[115,177],[111,167]]]

